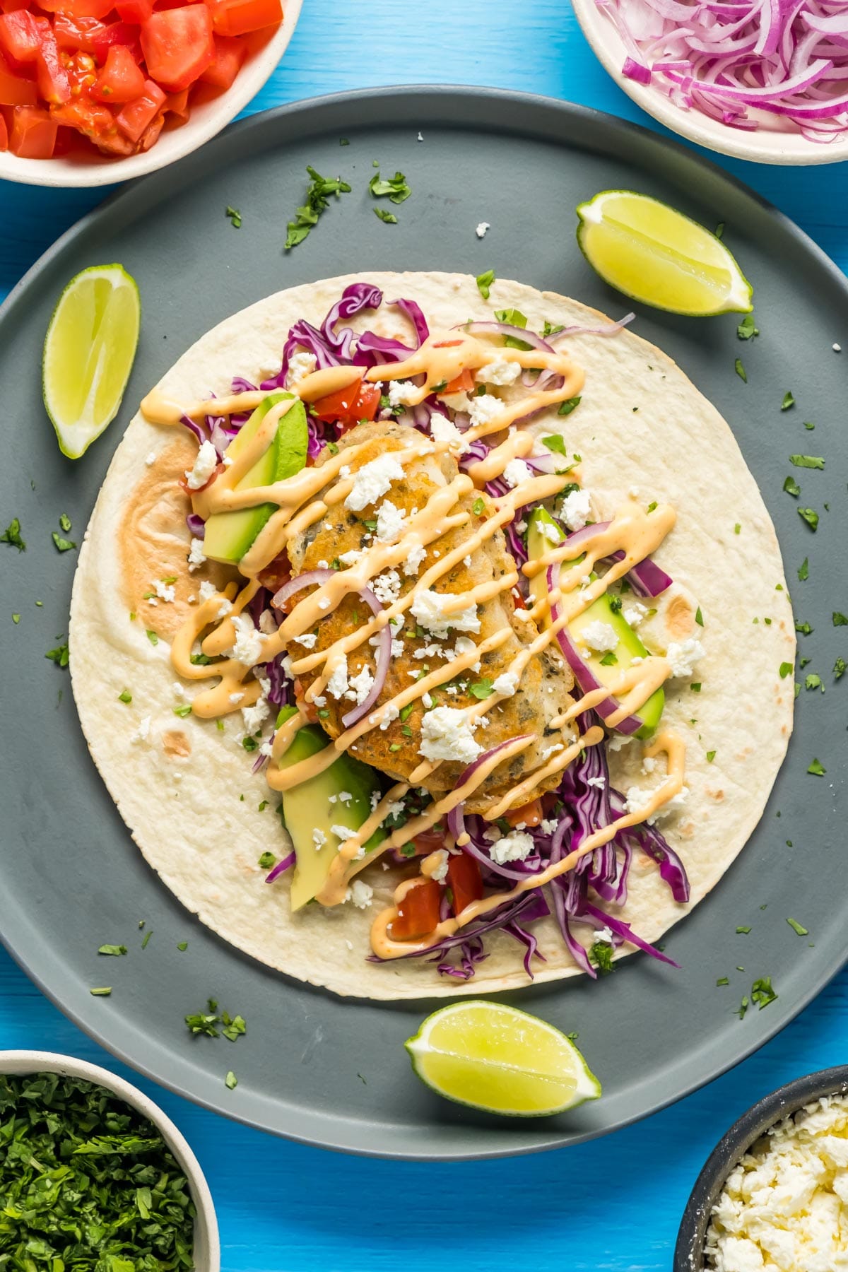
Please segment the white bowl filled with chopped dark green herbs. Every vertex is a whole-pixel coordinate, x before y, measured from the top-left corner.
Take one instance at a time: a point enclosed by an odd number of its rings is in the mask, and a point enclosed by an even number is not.
[[[0,1052],[0,1267],[219,1272],[197,1158],[140,1090],[97,1065]]]

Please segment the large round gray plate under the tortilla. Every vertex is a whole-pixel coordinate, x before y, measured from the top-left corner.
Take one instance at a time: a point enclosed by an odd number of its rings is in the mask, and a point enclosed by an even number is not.
[[[339,136],[350,146],[339,148]],[[402,169],[412,186],[412,198],[397,209],[398,225],[374,215],[374,159],[384,172]],[[353,193],[284,254],[308,163],[341,170]],[[800,617],[816,628],[801,639],[812,656],[807,670],[821,673],[828,692],[802,693],[790,758],[762,824],[715,894],[667,937],[681,971],[637,955],[596,985],[509,996],[578,1030],[604,1098],[558,1118],[498,1121],[440,1102],[409,1072],[403,1039],[431,1004],[342,1001],[290,982],[206,931],[149,870],[86,758],[67,675],[44,661],[66,631],[75,563],[75,553],[53,550],[50,532],[67,511],[72,537],[81,537],[121,426],[149,385],[209,327],[277,287],[351,270],[493,267],[502,277],[623,313],[627,303],[595,277],[573,237],[575,205],[606,187],[659,195],[707,225],[725,221],[726,239],[754,282],[763,328],[754,342],[737,341],[732,315],[703,322],[639,310],[636,329],[667,350],[736,430],[792,580],[810,557],[810,579],[793,590]],[[228,204],[243,212],[240,230],[224,216]],[[492,224],[482,242],[474,235],[481,220]],[[43,416],[41,345],[64,284],[104,261],[123,262],[139,280],[144,331],[121,421],[84,462],[70,463]],[[848,679],[834,686],[830,674],[835,655],[848,654],[845,633],[830,625],[833,608],[848,609],[844,590],[835,590],[845,577],[848,477],[844,430],[838,432],[848,351],[831,351],[839,340],[848,349],[845,280],[774,209],[674,142],[542,98],[418,88],[284,107],[235,125],[92,212],[38,262],[0,314],[10,439],[0,509],[6,519],[20,516],[28,541],[20,555],[0,546],[0,923],[9,950],[83,1029],[173,1090],[292,1138],[365,1154],[473,1158],[573,1144],[679,1099],[759,1047],[845,959],[835,775],[845,759],[838,706]],[[739,355],[748,385],[734,373]],[[798,404],[781,413],[790,388]],[[805,420],[815,421],[815,432],[804,429]],[[792,469],[801,502],[821,513],[817,534],[781,488],[793,452],[828,458],[824,473]],[[720,558],[716,569],[725,569]],[[13,609],[22,614],[18,626]],[[745,674],[741,659],[727,668],[727,675]],[[806,775],[814,756],[826,777]],[[797,937],[787,915],[811,936]],[[144,953],[141,918],[155,934]],[[739,925],[750,925],[751,934],[735,935]],[[182,940],[186,953],[175,948]],[[123,941],[130,955],[98,958],[102,941]],[[746,971],[734,971],[736,964]],[[717,988],[725,974],[731,986]],[[772,976],[779,997],[740,1021],[732,1007],[759,976]],[[112,997],[89,995],[104,983],[114,987]],[[188,1035],[182,1018],[209,995],[247,1018],[247,1038],[231,1046]],[[238,1071],[235,1091],[224,1086],[229,1067]]]

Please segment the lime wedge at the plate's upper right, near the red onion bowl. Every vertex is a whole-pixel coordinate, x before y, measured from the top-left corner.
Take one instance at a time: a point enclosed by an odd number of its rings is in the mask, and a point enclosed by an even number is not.
[[[753,287],[721,239],[667,204],[604,190],[577,216],[592,270],[632,300],[702,318],[750,313]]]

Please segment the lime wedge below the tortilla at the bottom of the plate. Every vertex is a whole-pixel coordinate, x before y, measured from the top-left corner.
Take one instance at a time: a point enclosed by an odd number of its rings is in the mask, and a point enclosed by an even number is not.
[[[404,1046],[431,1090],[488,1113],[544,1117],[600,1095],[570,1038],[502,1002],[441,1007]]]

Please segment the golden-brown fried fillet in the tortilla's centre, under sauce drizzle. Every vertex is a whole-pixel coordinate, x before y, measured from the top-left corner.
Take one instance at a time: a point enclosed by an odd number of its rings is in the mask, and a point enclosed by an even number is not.
[[[400,450],[404,446],[421,440],[421,434],[414,429],[397,422],[381,422],[360,425],[348,432],[339,443],[342,449],[351,445],[362,446],[351,463],[351,469],[361,468],[365,463],[383,455],[386,452]],[[319,460],[320,463],[320,460]],[[392,502],[409,514],[413,509],[421,511],[427,499],[439,486],[448,485],[459,472],[453,455],[425,455],[420,459],[407,462],[404,466],[403,481],[392,483],[392,490],[381,496],[375,505],[369,505],[361,513],[351,511],[342,504],[337,504],[315,525],[304,534],[289,543],[289,557],[292,574],[299,575],[308,570],[319,569],[327,562],[337,561],[351,550],[367,548],[373,542],[374,519],[383,499]],[[430,566],[439,557],[444,558],[453,548],[467,542],[473,527],[479,524],[479,513],[474,514],[473,505],[483,499],[483,516],[491,514],[492,504],[486,495],[477,492],[464,496],[458,501],[454,511],[467,511],[469,523],[464,527],[451,528],[434,539],[427,546],[427,555],[421,563],[417,575],[408,577],[402,566],[398,567],[400,579],[399,594],[408,593]],[[479,504],[477,504],[479,510]],[[369,527],[370,522],[370,527]],[[464,561],[454,569],[446,571],[432,584],[432,589],[440,593],[462,594],[482,583],[488,583],[502,577],[516,569],[515,561],[507,550],[503,533],[497,530],[482,547],[477,548]],[[454,692],[439,688],[432,693],[434,706],[468,707],[478,706],[482,682],[493,682],[498,675],[510,669],[510,664],[521,649],[526,647],[539,635],[535,623],[526,618],[516,618],[515,599],[511,589],[498,593],[495,599],[478,605],[478,618],[481,630],[472,639],[481,644],[486,637],[497,631],[509,628],[509,637],[497,649],[483,654],[481,665],[473,672],[464,672],[451,679]],[[314,649],[327,649],[342,636],[348,635],[356,626],[365,623],[370,618],[370,611],[356,595],[346,597],[342,604],[314,628],[317,642]],[[441,647],[450,649],[454,636],[436,640],[427,632],[421,632],[416,627],[416,621],[407,616],[402,636],[402,653],[392,658],[385,684],[380,691],[376,705],[388,702],[402,689],[408,688],[412,678],[423,672],[432,672],[445,665],[445,658],[440,653]],[[304,647],[296,641],[291,641],[287,653],[292,659],[304,656]],[[367,642],[348,654],[348,675],[352,678],[364,665],[374,670],[375,650]],[[308,687],[315,678],[315,673],[306,673],[301,677],[301,683]],[[477,686],[477,693],[473,687]],[[512,759],[500,764],[493,773],[477,789],[467,803],[469,813],[483,812],[495,799],[505,795],[516,782],[523,781],[534,770],[540,768],[552,756],[552,748],[559,744],[568,744],[573,738],[572,726],[553,729],[551,720],[566,711],[572,705],[571,688],[573,675],[562,658],[558,646],[549,645],[540,655],[534,656],[516,687],[512,697],[505,698],[486,714],[483,721],[475,731],[475,740],[484,749],[489,750],[498,743],[516,738],[521,734],[533,734],[533,743]],[[325,711],[320,722],[331,738],[337,738],[343,731],[341,717],[351,710],[351,702],[342,698],[334,700],[327,695]],[[373,710],[376,709],[376,705]],[[409,775],[421,763],[421,724],[425,715],[425,705],[418,698],[409,714],[404,712],[404,719],[392,721],[386,729],[374,728],[361,736],[351,747],[351,752],[359,759],[381,770],[389,777],[398,781],[408,781]],[[442,761],[436,770],[425,778],[422,785],[435,796],[442,795],[456,785],[456,780],[463,772],[464,764],[454,761]],[[544,790],[554,789],[559,782],[559,776],[548,777],[533,791],[521,799],[525,803]]]

